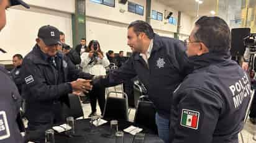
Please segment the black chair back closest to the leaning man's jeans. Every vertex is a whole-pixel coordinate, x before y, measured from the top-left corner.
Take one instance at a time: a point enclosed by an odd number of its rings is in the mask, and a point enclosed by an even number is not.
[[[144,126],[145,128],[151,129],[155,134],[158,134],[155,113],[156,110],[153,102],[140,99],[137,103],[137,110],[134,116],[135,125]]]

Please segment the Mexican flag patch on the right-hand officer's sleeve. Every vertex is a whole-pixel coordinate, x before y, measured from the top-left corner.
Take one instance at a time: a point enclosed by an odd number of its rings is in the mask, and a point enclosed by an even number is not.
[[[198,111],[183,109],[181,111],[180,125],[191,129],[198,129],[199,115]]]

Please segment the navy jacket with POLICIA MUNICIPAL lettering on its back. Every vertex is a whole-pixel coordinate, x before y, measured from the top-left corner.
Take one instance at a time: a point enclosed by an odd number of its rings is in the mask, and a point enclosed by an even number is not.
[[[173,93],[170,142],[237,143],[250,100],[250,80],[226,53],[189,58],[191,72]]]

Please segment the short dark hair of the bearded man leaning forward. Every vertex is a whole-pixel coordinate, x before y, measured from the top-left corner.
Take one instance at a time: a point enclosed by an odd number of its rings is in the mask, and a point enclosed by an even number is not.
[[[153,28],[142,20],[136,20],[135,22],[130,23],[128,28],[134,28],[134,32],[139,35],[139,33],[145,33],[149,39],[153,39],[155,33],[153,32]]]

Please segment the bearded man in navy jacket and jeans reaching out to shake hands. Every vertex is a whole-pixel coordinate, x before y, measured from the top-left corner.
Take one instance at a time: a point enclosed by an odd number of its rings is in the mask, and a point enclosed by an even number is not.
[[[156,107],[158,135],[168,143],[172,93],[187,70],[185,45],[173,38],[160,37],[141,20],[129,25],[127,38],[127,44],[134,49],[132,56],[119,69],[94,83],[110,86],[138,76]]]

